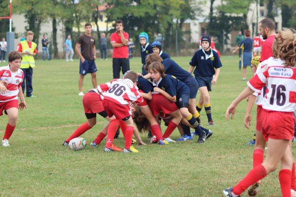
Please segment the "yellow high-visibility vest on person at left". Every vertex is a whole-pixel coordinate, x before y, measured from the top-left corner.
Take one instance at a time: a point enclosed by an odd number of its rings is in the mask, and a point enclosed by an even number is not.
[[[22,52],[24,53],[25,51],[30,51],[30,53],[34,53],[34,50],[37,47],[37,44],[35,42],[32,42],[31,45],[31,49],[29,48],[28,42],[26,40],[21,41],[21,45],[22,45]],[[35,67],[35,60],[34,57],[32,55],[27,55],[24,54],[23,56],[23,60],[22,60],[22,64],[21,64],[21,68],[29,68],[31,67]]]

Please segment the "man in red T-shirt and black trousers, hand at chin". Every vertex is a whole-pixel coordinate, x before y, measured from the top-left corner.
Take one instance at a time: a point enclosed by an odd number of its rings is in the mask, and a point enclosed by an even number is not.
[[[130,69],[128,59],[128,39],[129,34],[123,31],[123,21],[116,21],[116,32],[111,34],[110,42],[113,47],[113,79],[120,78],[120,70],[122,74]]]

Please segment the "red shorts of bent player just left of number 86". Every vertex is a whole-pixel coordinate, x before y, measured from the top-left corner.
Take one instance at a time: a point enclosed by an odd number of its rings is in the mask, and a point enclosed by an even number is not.
[[[96,114],[105,110],[101,96],[94,92],[85,93],[82,99],[82,103],[83,103],[84,113]]]

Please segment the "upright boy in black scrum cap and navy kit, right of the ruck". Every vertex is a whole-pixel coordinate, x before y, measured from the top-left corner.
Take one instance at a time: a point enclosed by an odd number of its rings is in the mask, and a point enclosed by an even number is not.
[[[210,94],[212,91],[212,84],[216,85],[217,79],[220,73],[220,67],[222,66],[218,54],[211,49],[211,37],[209,35],[203,35],[201,37],[202,49],[195,52],[189,62],[189,73],[192,73],[194,67],[195,80],[198,83],[198,90],[200,91],[200,97],[196,104],[198,112],[202,107],[205,107],[205,111],[208,117],[208,125],[214,125],[211,112]],[[215,75],[215,78],[213,78]]]

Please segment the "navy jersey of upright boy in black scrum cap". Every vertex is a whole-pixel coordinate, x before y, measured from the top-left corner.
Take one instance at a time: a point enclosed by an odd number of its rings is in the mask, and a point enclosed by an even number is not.
[[[211,50],[211,54],[207,55],[203,49],[195,52],[189,65],[195,66],[193,73],[197,76],[213,76],[216,72],[215,68],[222,66],[216,51]]]

